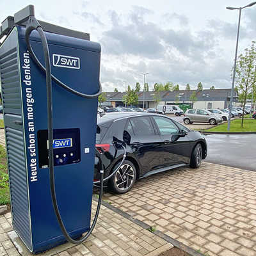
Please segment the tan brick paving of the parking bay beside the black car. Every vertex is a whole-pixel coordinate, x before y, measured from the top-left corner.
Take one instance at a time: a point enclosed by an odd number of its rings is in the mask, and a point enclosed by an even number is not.
[[[139,180],[125,195],[105,195],[134,218],[195,250],[256,255],[256,172],[203,162]]]

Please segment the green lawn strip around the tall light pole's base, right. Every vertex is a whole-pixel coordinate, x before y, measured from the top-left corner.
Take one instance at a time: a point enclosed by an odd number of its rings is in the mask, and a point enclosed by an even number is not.
[[[244,119],[244,127],[241,127],[241,119],[235,119],[231,121],[229,132],[256,132],[256,120]],[[207,129],[207,132],[228,132],[228,123],[217,125],[211,129]]]

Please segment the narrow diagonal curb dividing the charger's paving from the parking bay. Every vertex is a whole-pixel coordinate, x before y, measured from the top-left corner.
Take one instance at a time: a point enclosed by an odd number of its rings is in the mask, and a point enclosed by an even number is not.
[[[94,201],[98,202],[99,198],[97,198],[97,196],[93,195],[92,199]],[[127,214],[126,212],[118,209],[117,207],[115,207],[115,206],[113,206],[113,205],[111,205],[111,204],[109,204],[107,202],[104,202],[103,200],[102,200],[101,204],[104,205],[105,207],[107,207],[108,209],[112,210],[113,212],[116,212],[116,213],[120,214],[121,216],[123,216],[124,218],[127,218],[128,220],[132,221],[133,223],[139,225],[142,228],[145,228],[145,229],[150,228],[150,225],[148,225],[147,223],[145,223],[145,222],[143,222],[141,220],[133,218],[130,214]],[[205,256],[204,254],[202,254],[200,252],[196,252],[196,250],[194,250],[193,248],[191,248],[191,247],[189,247],[189,246],[187,246],[185,244],[180,243],[178,240],[173,239],[170,236],[167,236],[166,234],[164,234],[163,232],[161,232],[159,230],[156,230],[156,231],[154,231],[152,233],[155,234],[156,236],[161,237],[166,242],[173,244],[173,246],[179,248],[180,250],[188,253],[191,256]]]

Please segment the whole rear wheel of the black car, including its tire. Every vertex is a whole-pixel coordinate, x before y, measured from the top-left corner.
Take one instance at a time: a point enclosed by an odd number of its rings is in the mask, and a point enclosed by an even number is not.
[[[115,164],[112,172],[120,163]],[[134,164],[125,160],[115,175],[109,180],[109,189],[116,194],[127,193],[136,181],[137,170]],[[124,186],[123,186],[124,185]]]

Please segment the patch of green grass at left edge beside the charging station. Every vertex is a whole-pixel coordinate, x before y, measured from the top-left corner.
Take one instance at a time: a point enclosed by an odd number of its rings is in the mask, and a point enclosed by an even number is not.
[[[0,205],[10,204],[9,179],[5,148],[0,145]]]

